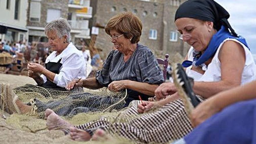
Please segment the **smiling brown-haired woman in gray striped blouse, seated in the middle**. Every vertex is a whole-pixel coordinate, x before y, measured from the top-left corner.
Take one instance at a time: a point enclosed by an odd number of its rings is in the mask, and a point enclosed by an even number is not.
[[[109,53],[102,69],[97,72],[96,77],[81,79],[79,82],[78,79],[74,79],[66,86],[67,90],[71,90],[74,86],[86,88],[102,88],[105,86],[113,91],[127,88],[128,97],[125,99],[126,103],[122,107],[128,106],[132,100],[138,100],[139,95],[144,100],[153,97],[156,88],[164,81],[163,72],[152,51],[138,43],[142,31],[141,20],[132,13],[122,13],[112,17],[107,23],[105,30],[110,35],[110,40],[117,50]],[[57,44],[52,45],[55,46]],[[84,58],[82,59],[84,60]],[[29,67],[33,67],[33,65],[31,64]],[[38,66],[39,68],[43,70],[41,66]],[[35,68],[34,70],[37,69]],[[86,96],[88,96],[88,93],[71,95],[65,99],[47,104],[35,100],[35,106],[38,112],[40,112],[45,111],[47,108],[54,109],[60,105],[65,105],[60,111],[55,111],[59,115],[69,115],[74,109],[85,112],[83,110],[88,110],[86,108],[90,107],[90,102],[79,102],[79,104],[75,102],[73,104],[69,100],[79,100]],[[97,103],[94,100],[96,97],[91,97],[91,99],[91,105]],[[104,98],[101,100],[105,102],[110,101]],[[23,104],[19,100],[16,101],[16,104],[23,113],[31,109],[31,106]]]

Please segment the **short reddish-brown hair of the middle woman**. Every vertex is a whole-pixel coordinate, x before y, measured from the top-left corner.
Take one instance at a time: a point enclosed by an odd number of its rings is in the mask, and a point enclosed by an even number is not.
[[[111,17],[106,24],[106,33],[110,35],[111,30],[123,34],[127,39],[131,38],[131,43],[134,44],[140,41],[142,23],[141,20],[131,12],[120,13]]]

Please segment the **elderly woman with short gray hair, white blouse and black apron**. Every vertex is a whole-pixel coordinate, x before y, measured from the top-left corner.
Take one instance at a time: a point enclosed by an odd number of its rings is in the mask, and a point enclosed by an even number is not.
[[[45,67],[28,64],[28,75],[38,86],[65,90],[75,78],[86,78],[86,63],[81,51],[70,42],[70,25],[60,18],[45,26],[45,34],[53,52],[46,58]],[[41,74],[41,76],[39,75]]]

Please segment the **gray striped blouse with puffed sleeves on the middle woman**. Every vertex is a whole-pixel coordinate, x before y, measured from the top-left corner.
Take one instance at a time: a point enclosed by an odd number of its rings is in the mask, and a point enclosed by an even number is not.
[[[137,44],[137,48],[128,61],[124,61],[124,54],[118,50],[109,53],[103,67],[96,73],[97,81],[107,87],[112,81],[131,80],[145,82],[149,84],[161,84],[164,82],[163,72],[158,65],[157,59],[152,51],[141,44]],[[143,100],[147,100],[149,96],[128,89],[131,100],[138,99],[141,95]]]

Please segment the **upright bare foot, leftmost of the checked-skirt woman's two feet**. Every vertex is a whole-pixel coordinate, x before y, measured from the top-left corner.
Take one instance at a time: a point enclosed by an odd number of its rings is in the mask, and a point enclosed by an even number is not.
[[[45,111],[45,117],[47,118],[46,126],[49,130],[61,130],[64,131],[69,127],[72,127],[70,123],[59,117],[53,110],[47,109]]]

